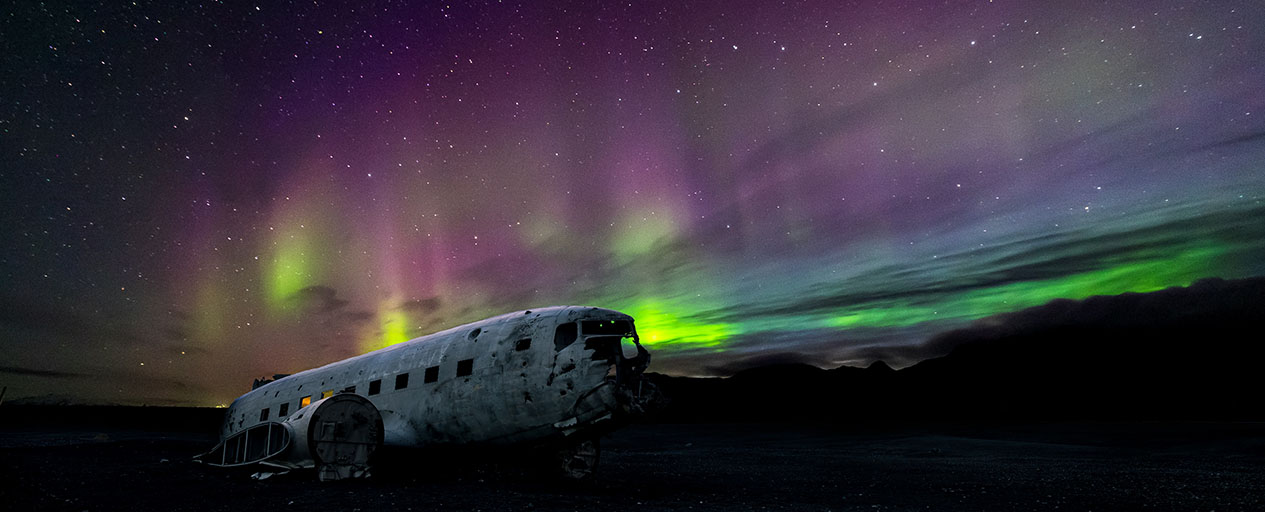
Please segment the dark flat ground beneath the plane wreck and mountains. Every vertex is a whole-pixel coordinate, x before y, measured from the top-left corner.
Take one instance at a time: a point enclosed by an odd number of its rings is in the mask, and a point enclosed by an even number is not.
[[[190,460],[210,445],[190,430],[9,427],[0,508],[1265,509],[1265,424],[635,425],[581,484],[428,453],[368,480],[256,482]]]

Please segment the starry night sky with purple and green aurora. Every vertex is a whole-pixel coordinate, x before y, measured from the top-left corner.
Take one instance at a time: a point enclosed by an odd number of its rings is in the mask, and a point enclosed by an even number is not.
[[[549,305],[662,373],[902,367],[1265,274],[1259,1],[177,4],[0,11],[6,399],[225,403]]]

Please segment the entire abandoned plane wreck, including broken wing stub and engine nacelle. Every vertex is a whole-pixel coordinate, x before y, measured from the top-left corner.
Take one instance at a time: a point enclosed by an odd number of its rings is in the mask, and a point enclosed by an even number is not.
[[[275,381],[233,401],[196,460],[367,477],[382,446],[548,445],[569,478],[598,436],[658,399],[632,317],[598,307],[517,311]]]

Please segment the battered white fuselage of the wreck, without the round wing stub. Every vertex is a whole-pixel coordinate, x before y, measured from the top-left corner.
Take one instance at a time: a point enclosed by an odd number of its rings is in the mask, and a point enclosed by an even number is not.
[[[620,407],[615,375],[627,372],[616,369],[626,357],[617,336],[616,354],[610,353],[611,332],[598,332],[598,322],[627,322],[625,343],[645,354],[631,334],[632,319],[621,312],[579,306],[517,311],[269,382],[233,401],[220,437],[286,421],[309,402],[340,392],[361,394],[378,408],[386,445],[569,435],[611,418]]]

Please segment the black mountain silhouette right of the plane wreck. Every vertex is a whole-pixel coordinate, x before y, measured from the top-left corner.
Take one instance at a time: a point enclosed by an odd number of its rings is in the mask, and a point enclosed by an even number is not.
[[[1265,278],[1059,300],[927,341],[894,370],[750,368],[655,374],[660,421],[1261,420]]]

